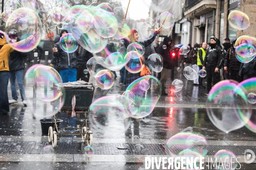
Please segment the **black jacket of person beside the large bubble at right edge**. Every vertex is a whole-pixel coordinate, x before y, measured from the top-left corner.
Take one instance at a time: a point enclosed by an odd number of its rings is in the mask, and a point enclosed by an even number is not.
[[[224,66],[229,70],[239,71],[241,62],[236,58],[235,48],[229,48],[225,53]]]

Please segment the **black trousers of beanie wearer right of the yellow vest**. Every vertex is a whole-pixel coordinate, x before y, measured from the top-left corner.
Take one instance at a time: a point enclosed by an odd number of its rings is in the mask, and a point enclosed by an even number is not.
[[[221,76],[220,73],[217,72],[215,73],[215,66],[208,66],[206,67],[206,73],[207,73],[207,92],[212,89],[212,80],[213,80],[213,85],[217,84],[218,82],[221,81]]]

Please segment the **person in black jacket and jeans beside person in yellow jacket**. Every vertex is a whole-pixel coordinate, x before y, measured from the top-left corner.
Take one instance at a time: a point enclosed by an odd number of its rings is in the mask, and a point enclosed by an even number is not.
[[[9,32],[9,38],[11,39],[11,43],[19,42],[20,38],[18,38],[18,31],[17,30],[11,30]],[[17,90],[15,87],[15,80],[17,79],[17,84],[20,89],[20,96],[23,102],[23,105],[26,107],[26,96],[25,96],[25,90],[23,86],[23,69],[25,68],[25,62],[26,62],[26,53],[22,53],[20,51],[13,51],[10,54],[9,57],[9,80],[11,84],[11,91],[12,91],[12,100],[9,101],[9,104],[17,104]]]

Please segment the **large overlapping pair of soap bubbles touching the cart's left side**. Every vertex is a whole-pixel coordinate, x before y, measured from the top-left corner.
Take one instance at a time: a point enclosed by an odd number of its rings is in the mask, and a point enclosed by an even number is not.
[[[65,92],[61,85],[62,79],[58,71],[46,65],[33,65],[26,71],[25,80],[25,93],[26,91],[33,91],[34,88],[36,100],[38,100],[36,108],[35,103],[33,103],[34,101],[28,100],[28,108],[34,116],[50,117],[62,108],[65,101]],[[32,84],[33,86],[26,86],[26,84]],[[53,84],[55,88],[52,89]],[[27,96],[31,94],[29,92],[26,93]],[[33,94],[31,95],[33,97]],[[53,108],[46,107],[46,105],[51,103],[55,103]]]

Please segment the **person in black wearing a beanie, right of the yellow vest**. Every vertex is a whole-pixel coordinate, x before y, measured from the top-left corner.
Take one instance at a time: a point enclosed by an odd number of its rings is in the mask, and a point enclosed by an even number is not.
[[[210,49],[206,52],[206,57],[204,59],[203,69],[207,72],[207,93],[212,88],[212,79],[213,85],[221,81],[219,69],[221,68],[221,48],[217,45],[218,39],[214,36],[210,39],[211,45]]]

